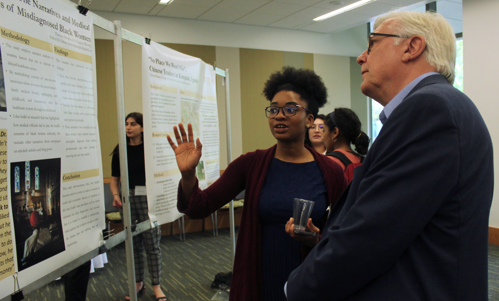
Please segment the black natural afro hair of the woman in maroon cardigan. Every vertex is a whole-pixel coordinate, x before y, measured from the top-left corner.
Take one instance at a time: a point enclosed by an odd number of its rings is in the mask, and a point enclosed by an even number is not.
[[[313,70],[284,66],[281,71],[272,73],[263,87],[263,95],[272,101],[281,91],[292,91],[306,101],[314,120],[319,109],[327,103],[327,88]]]

